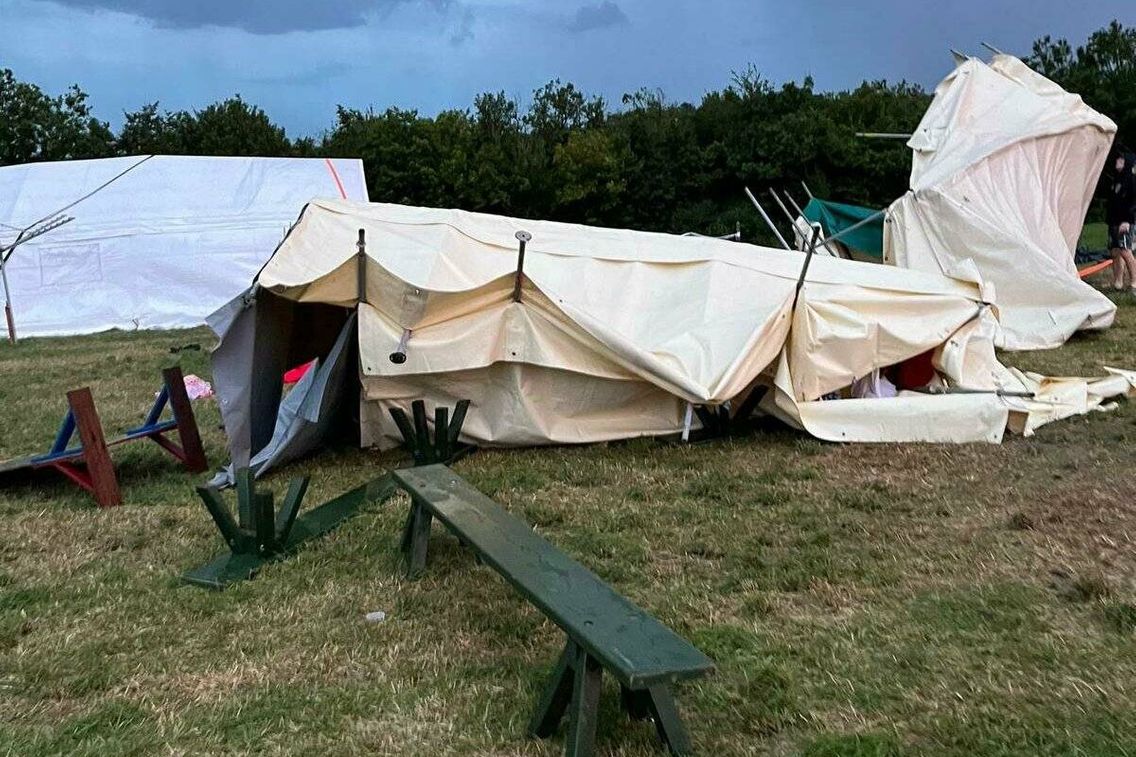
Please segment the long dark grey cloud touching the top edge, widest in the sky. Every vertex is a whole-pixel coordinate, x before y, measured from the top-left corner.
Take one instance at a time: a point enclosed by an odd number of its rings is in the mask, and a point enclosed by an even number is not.
[[[170,28],[220,26],[283,34],[362,26],[367,17],[423,2],[446,10],[453,0],[51,0],[70,8],[116,10]]]

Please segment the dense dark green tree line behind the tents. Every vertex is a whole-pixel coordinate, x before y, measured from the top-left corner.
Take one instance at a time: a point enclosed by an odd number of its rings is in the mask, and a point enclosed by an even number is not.
[[[1026,63],[1119,125],[1136,143],[1136,28],[1113,22],[1074,48],[1036,41]],[[429,117],[340,106],[317,138],[290,139],[261,108],[234,95],[201,110],[126,113],[117,133],[77,85],[50,95],[0,69],[0,165],[115,155],[361,158],[376,201],[769,241],[741,190],[801,182],[818,196],[883,207],[907,188],[902,141],[857,132],[910,132],[930,102],[907,82],[840,92],[813,81],[775,85],[735,73],[698,103],[640,90],[613,106],[552,81],[524,110],[503,92]]]

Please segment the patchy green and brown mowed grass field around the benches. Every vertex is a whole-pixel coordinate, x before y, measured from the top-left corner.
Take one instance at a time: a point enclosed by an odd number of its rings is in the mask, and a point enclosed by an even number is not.
[[[1136,367],[1114,328],[1006,361]],[[0,346],[0,457],[50,444],[64,392],[141,418],[201,330]],[[474,398],[476,400],[476,398]],[[197,404],[210,463],[219,415]],[[704,755],[1136,754],[1136,407],[1001,447],[841,446],[784,429],[479,451],[459,472],[718,664],[679,706]],[[225,592],[178,575],[222,541],[154,446],[114,452],[126,504],[50,473],[0,489],[0,752],[557,755],[525,738],[561,634],[435,527],[407,581],[401,498]],[[399,454],[326,450],[309,504]],[[384,610],[368,624],[364,615]],[[605,691],[603,754],[657,754]]]

